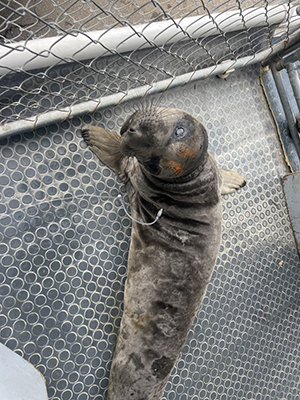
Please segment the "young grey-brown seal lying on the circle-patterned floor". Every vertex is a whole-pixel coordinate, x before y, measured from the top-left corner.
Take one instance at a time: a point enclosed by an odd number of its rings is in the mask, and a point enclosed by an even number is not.
[[[91,150],[124,181],[133,217],[109,400],[160,399],[210,281],[221,194],[245,185],[217,168],[204,126],[176,109],[136,111],[120,135],[86,125]],[[163,209],[161,217],[150,224]]]

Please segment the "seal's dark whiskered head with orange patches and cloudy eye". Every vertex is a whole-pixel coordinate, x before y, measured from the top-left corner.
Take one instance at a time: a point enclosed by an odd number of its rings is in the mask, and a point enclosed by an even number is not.
[[[121,128],[121,151],[160,179],[189,175],[207,154],[207,133],[191,115],[170,108],[136,111]]]

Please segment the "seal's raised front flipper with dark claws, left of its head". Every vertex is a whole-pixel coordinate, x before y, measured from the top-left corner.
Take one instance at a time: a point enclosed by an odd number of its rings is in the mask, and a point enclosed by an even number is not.
[[[121,136],[99,126],[84,125],[82,137],[100,160],[117,174],[125,156],[120,151]]]

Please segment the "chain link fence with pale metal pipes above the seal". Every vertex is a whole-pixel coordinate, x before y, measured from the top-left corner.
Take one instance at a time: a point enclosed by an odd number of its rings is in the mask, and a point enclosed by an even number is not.
[[[267,0],[0,1],[0,134],[261,61],[293,40],[297,10]]]

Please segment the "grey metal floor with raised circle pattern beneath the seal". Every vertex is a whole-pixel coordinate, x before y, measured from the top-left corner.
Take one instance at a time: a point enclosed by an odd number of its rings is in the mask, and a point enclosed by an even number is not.
[[[299,400],[300,262],[258,69],[155,99],[197,116],[219,166],[248,181],[224,198],[220,255],[163,399]],[[44,374],[51,400],[106,398],[130,221],[80,127],[119,130],[137,105],[1,142],[0,340]]]

